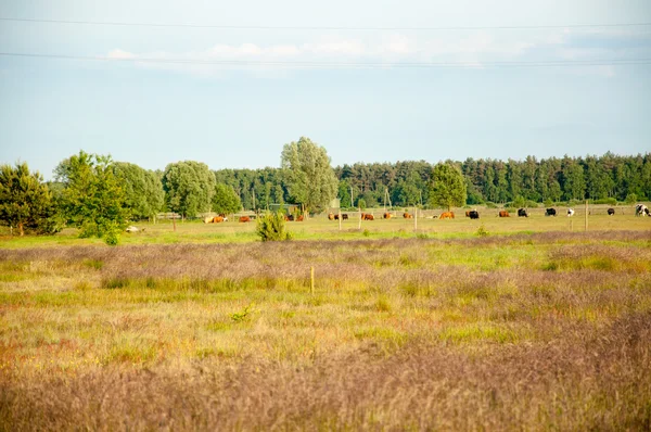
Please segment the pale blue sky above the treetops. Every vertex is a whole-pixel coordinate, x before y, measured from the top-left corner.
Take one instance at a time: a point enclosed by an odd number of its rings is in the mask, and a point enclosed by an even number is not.
[[[58,21],[0,20],[0,163],[46,179],[79,150],[279,166],[302,136],[333,165],[651,151],[649,0],[0,0],[0,18]]]

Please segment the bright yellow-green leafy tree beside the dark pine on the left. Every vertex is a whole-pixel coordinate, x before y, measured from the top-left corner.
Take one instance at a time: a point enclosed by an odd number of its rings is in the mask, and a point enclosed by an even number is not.
[[[112,164],[111,156],[80,151],[54,170],[64,186],[60,209],[67,220],[81,228],[80,237],[113,237],[126,226],[129,211]]]

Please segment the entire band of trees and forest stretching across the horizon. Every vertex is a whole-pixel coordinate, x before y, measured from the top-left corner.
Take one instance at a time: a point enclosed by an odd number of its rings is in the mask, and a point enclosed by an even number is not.
[[[43,182],[26,164],[0,166],[0,223],[24,232],[79,228],[81,237],[116,241],[129,220],[161,212],[192,218],[302,204],[318,213],[339,198],[342,207],[510,206],[576,200],[646,201],[651,196],[651,154],[357,163],[332,168],[324,148],[302,137],[283,147],[278,168],[210,170],[201,162],[148,170],[80,151]]]

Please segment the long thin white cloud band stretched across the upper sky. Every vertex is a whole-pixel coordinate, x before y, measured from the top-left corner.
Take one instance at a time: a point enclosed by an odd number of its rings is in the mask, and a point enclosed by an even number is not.
[[[434,34],[363,34],[350,38],[322,36],[304,43],[216,43],[207,49],[186,52],[132,53],[122,49],[108,52],[106,59],[133,60],[139,66],[215,74],[224,69],[278,69],[302,66],[302,63],[385,64],[399,62],[461,62],[481,67],[484,63],[505,61],[582,60],[609,56],[605,49],[572,47],[573,33],[567,28],[527,33],[490,33],[485,30]],[[161,62],[144,62],[152,59]],[[170,63],[163,63],[169,61]],[[250,64],[242,64],[250,63]],[[256,67],[252,68],[251,63]],[[296,63],[296,65],[292,64]],[[305,65],[303,65],[305,66]],[[312,65],[314,66],[314,65]],[[613,68],[604,69],[613,74]]]

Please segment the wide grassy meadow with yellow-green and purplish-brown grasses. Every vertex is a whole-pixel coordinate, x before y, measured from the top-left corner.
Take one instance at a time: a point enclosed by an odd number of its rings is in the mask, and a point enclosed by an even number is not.
[[[2,237],[0,430],[649,430],[651,218],[598,209]]]

